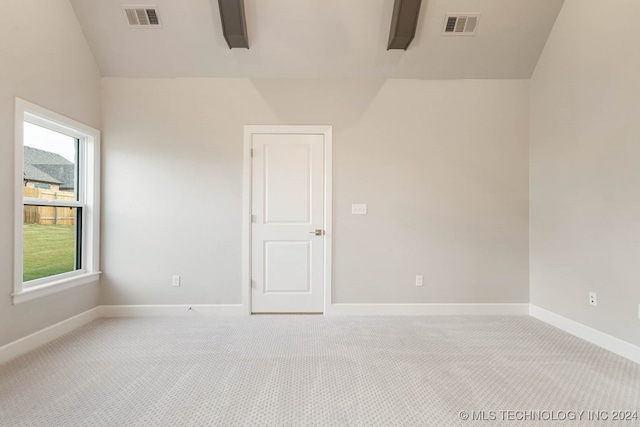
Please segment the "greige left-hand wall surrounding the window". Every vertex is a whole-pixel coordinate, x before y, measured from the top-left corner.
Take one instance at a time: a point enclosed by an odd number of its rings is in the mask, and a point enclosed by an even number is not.
[[[11,305],[14,98],[100,124],[99,72],[68,0],[0,2],[0,346],[98,303],[98,287]]]

